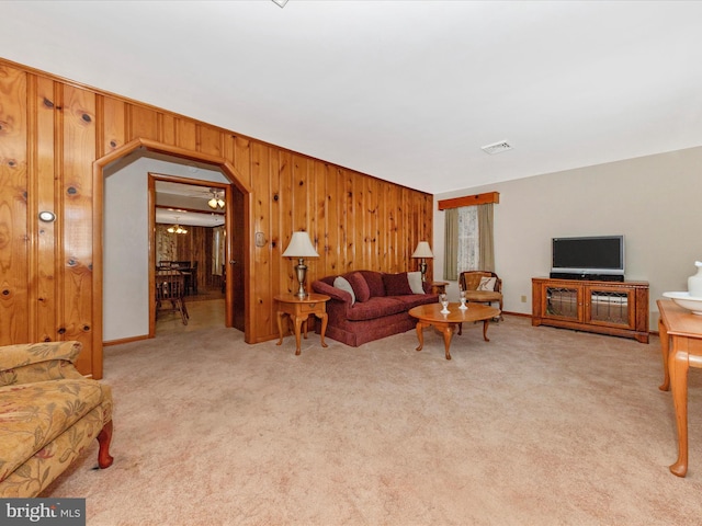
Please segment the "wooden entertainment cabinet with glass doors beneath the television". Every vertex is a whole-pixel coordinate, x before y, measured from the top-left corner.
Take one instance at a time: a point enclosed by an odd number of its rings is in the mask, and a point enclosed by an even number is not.
[[[534,277],[531,324],[648,343],[648,283]]]

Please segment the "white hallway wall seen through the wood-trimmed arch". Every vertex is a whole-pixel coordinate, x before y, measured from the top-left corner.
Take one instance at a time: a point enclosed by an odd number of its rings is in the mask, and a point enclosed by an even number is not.
[[[149,332],[148,172],[228,182],[218,169],[168,159],[135,151],[104,170],[102,319],[105,342],[145,336]]]

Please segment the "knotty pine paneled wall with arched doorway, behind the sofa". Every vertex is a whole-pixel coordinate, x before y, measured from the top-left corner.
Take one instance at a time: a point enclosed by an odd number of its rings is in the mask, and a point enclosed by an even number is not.
[[[267,243],[242,248],[249,343],[276,338],[273,297],[296,289],[281,256],[293,231],[309,231],[320,255],[307,262],[308,283],[416,270],[410,254],[431,240],[430,194],[0,59],[0,345],[78,340],[79,369],[102,377],[93,162],[134,139],[220,159],[250,190],[248,237]],[[39,221],[39,210],[57,220]]]

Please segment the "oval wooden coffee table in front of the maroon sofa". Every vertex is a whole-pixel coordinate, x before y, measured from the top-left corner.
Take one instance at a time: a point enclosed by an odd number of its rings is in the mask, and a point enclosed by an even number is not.
[[[424,327],[433,327],[439,332],[443,333],[443,345],[446,351],[446,359],[451,359],[451,353],[449,347],[451,346],[451,338],[456,328],[461,327],[461,323],[467,321],[482,321],[483,322],[483,338],[486,342],[490,340],[487,338],[487,328],[492,318],[500,316],[500,309],[480,304],[469,304],[466,310],[461,310],[458,307],[461,304],[449,304],[450,312],[448,315],[441,313],[440,304],[420,305],[409,310],[409,316],[417,318],[417,339],[419,340],[419,346],[417,351],[421,351],[424,346],[424,336],[422,331]]]

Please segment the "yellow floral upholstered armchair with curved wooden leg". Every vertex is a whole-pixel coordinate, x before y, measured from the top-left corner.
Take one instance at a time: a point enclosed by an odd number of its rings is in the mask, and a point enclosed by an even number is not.
[[[36,496],[95,438],[112,465],[112,392],[73,367],[79,342],[0,346],[0,498]]]

